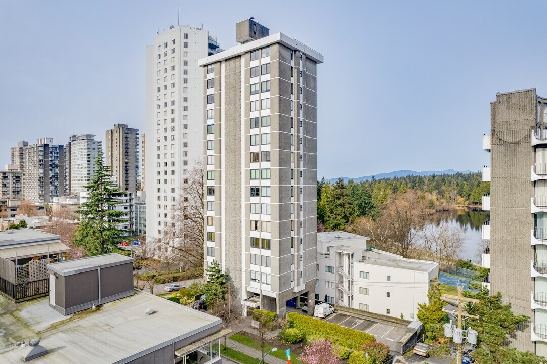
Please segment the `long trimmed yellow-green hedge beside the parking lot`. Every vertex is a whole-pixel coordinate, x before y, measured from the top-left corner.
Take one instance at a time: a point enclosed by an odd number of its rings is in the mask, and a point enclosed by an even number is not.
[[[295,312],[287,314],[287,322],[292,327],[298,328],[306,338],[310,336],[323,336],[331,340],[333,344],[338,344],[352,350],[359,350],[364,344],[374,342],[374,336],[366,332],[331,324],[330,322],[317,320]]]

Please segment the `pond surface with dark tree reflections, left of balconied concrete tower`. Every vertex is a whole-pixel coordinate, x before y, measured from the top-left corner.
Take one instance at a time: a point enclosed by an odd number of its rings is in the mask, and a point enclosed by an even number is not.
[[[458,209],[437,213],[439,221],[446,221],[450,226],[462,229],[465,237],[461,259],[480,263],[479,249],[482,250],[482,224],[490,220],[490,212],[480,209]]]

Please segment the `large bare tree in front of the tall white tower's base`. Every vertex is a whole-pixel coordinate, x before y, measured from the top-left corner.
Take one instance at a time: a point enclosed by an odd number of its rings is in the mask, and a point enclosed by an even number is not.
[[[173,209],[172,226],[166,229],[162,239],[171,248],[172,258],[179,261],[184,269],[195,270],[201,274],[205,243],[203,171],[203,164],[196,162],[188,178],[183,180]]]

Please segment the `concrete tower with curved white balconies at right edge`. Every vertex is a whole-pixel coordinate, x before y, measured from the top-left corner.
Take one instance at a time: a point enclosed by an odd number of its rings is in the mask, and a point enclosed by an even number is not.
[[[504,92],[490,106],[491,133],[483,137],[491,152],[491,166],[482,172],[491,186],[483,199],[483,206],[490,202],[483,266],[489,261],[490,291],[530,318],[511,346],[547,356],[547,98],[535,89]]]

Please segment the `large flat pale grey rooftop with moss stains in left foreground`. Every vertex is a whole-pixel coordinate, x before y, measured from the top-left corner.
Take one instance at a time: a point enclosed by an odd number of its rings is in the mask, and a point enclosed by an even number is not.
[[[144,314],[150,308],[152,315]],[[112,364],[137,359],[147,349],[220,324],[220,319],[136,292],[131,297],[63,316],[48,306],[48,297],[14,304],[0,296],[0,363],[20,364],[28,348],[15,343],[40,338],[50,353],[40,364]],[[35,361],[32,361],[35,362]]]

